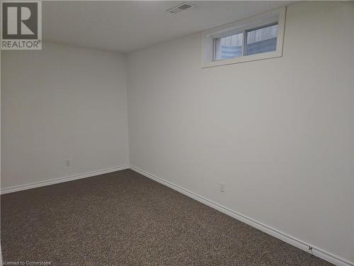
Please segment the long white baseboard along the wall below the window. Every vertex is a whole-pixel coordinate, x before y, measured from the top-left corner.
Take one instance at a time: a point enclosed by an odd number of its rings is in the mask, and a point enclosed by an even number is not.
[[[233,218],[236,218],[237,220],[242,221],[242,222],[248,224],[249,226],[253,226],[254,228],[257,228],[265,233],[268,233],[269,235],[272,235],[275,238],[279,238],[280,240],[282,240],[286,243],[289,243],[290,245],[294,245],[295,247],[297,247],[301,250],[309,252],[309,247],[311,247],[313,255],[315,255],[316,257],[320,257],[321,259],[326,260],[328,262],[331,262],[334,265],[338,265],[338,266],[353,266],[354,265],[353,262],[349,262],[348,260],[344,260],[341,257],[333,255],[329,252],[326,252],[325,250],[321,250],[320,248],[316,248],[313,245],[310,245],[309,243],[305,243],[302,240],[292,237],[291,235],[287,235],[286,233],[282,233],[281,231],[278,231],[275,228],[272,228],[270,226],[266,226],[265,224],[258,222],[256,220],[253,220],[252,218],[249,218],[247,216],[244,216],[243,214],[239,214],[236,211],[232,211],[231,209],[228,209],[227,207],[217,204],[214,201],[210,201],[209,199],[205,199],[203,196],[195,194],[194,192],[190,192],[188,189],[183,189],[183,187],[179,187],[176,184],[166,181],[165,179],[162,179],[160,177],[156,177],[156,175],[154,175],[154,174],[150,174],[148,172],[145,172],[144,170],[141,170],[138,167],[130,165],[130,169],[135,172],[138,172],[139,174],[144,175],[145,177],[149,177],[150,179],[153,179],[156,182],[164,184],[167,187],[170,187],[171,189],[181,192],[182,194],[185,194],[186,196],[189,196],[192,199],[200,201],[202,204],[205,204],[207,206],[212,207],[213,209],[217,209],[218,211],[221,211],[224,214],[232,216]]]

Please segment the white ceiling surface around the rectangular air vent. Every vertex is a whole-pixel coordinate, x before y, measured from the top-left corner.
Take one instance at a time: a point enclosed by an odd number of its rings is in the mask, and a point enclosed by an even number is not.
[[[43,39],[131,52],[290,4],[290,1],[43,1]]]

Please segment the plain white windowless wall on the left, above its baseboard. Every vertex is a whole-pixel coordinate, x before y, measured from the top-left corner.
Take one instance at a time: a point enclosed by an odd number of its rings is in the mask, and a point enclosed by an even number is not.
[[[125,57],[1,51],[1,130],[1,189],[127,165]]]

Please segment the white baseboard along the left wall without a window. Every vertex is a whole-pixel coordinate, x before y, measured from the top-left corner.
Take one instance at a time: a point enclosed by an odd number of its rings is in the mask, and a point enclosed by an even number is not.
[[[45,187],[50,184],[58,184],[58,183],[68,182],[68,181],[86,178],[86,177],[94,177],[99,174],[107,174],[109,172],[116,172],[116,171],[125,170],[125,169],[129,169],[129,168],[130,168],[129,165],[110,167],[110,168],[103,169],[103,170],[86,172],[84,174],[74,174],[74,175],[70,175],[69,177],[59,177],[56,179],[50,179],[50,180],[35,182],[35,183],[31,183],[31,184],[22,184],[22,185],[16,186],[16,187],[6,187],[4,189],[1,189],[1,194],[18,192],[18,191],[25,190],[25,189],[34,189],[35,187]]]

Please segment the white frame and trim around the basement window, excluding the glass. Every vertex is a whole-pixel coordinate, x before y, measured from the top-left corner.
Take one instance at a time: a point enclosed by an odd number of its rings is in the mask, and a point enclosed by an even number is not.
[[[285,32],[285,15],[286,6],[281,9],[261,13],[257,16],[235,21],[217,28],[202,33],[202,68],[217,67],[219,65],[231,65],[241,62],[249,62],[255,60],[263,60],[267,58],[282,57],[282,43],[284,40]],[[231,59],[215,60],[215,38],[222,38],[224,36],[233,35],[237,33],[244,33],[243,35],[243,50],[245,49],[247,31],[254,28],[261,28],[268,26],[272,23],[278,23],[278,37],[277,48],[272,52],[261,52],[254,55],[242,55]]]

